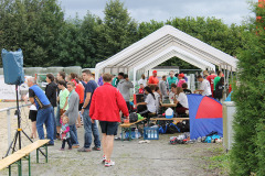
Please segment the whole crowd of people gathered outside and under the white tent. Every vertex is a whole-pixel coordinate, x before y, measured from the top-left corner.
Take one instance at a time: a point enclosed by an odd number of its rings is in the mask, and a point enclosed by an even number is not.
[[[222,95],[220,96],[219,90],[224,84],[222,72],[218,76],[214,72],[208,77],[203,74],[197,77],[201,86],[194,92],[220,100]],[[61,151],[65,150],[65,143],[68,144],[68,150],[78,148],[78,152],[103,150],[102,161],[105,166],[115,165],[110,156],[120,116],[128,118],[131,111],[144,117],[159,113],[160,102],[167,98],[177,105],[176,112],[182,114],[189,109],[187,95],[191,94],[184,74],[174,75],[174,72],[170,72],[168,77],[162,76],[161,80],[158,79],[157,70],[152,72],[148,80],[141,75],[138,94],[144,94],[145,100],[136,107],[130,102],[130,89],[135,86],[124,73],[118,76],[102,74],[97,81],[89,69],[83,70],[82,76],[74,73],[66,76],[64,72],[60,72],[56,77],[47,74],[45,91],[36,85],[35,78],[28,78],[26,81],[29,95],[25,99],[32,103],[29,116],[32,121],[32,138],[36,138],[38,132],[39,138],[44,139],[45,124],[49,145],[54,145],[54,140],[57,139],[62,141]],[[95,120],[99,121],[102,140]],[[85,132],[84,144],[81,146],[77,129],[82,125]]]

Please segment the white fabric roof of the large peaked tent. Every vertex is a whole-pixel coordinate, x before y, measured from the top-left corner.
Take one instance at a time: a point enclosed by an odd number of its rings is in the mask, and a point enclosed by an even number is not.
[[[192,37],[171,25],[165,25],[150,35],[128,46],[110,58],[98,63],[96,79],[105,68],[110,70],[148,70],[177,56],[201,69],[214,69],[215,65],[236,69],[237,59]]]

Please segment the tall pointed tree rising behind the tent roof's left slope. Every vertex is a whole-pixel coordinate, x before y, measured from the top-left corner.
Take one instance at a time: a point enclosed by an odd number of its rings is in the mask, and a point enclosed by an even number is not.
[[[97,28],[97,57],[105,59],[137,41],[137,22],[119,0],[106,3],[103,24]]]

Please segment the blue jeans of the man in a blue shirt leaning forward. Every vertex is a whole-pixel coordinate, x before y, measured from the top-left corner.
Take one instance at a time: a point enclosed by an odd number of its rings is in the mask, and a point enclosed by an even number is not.
[[[46,109],[39,109],[36,114],[36,131],[40,140],[44,140],[43,124],[46,127],[46,136],[50,140],[50,144],[54,144],[54,111],[53,107]]]

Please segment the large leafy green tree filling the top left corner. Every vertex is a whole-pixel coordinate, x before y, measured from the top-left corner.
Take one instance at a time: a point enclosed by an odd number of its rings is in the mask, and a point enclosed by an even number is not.
[[[56,0],[0,1],[0,46],[22,48],[24,66],[50,66],[59,58],[64,13]]]

